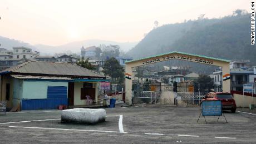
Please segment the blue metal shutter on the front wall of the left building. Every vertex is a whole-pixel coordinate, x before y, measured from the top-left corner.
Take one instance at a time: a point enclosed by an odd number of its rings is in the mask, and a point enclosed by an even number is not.
[[[67,87],[48,86],[47,98],[67,98]]]

